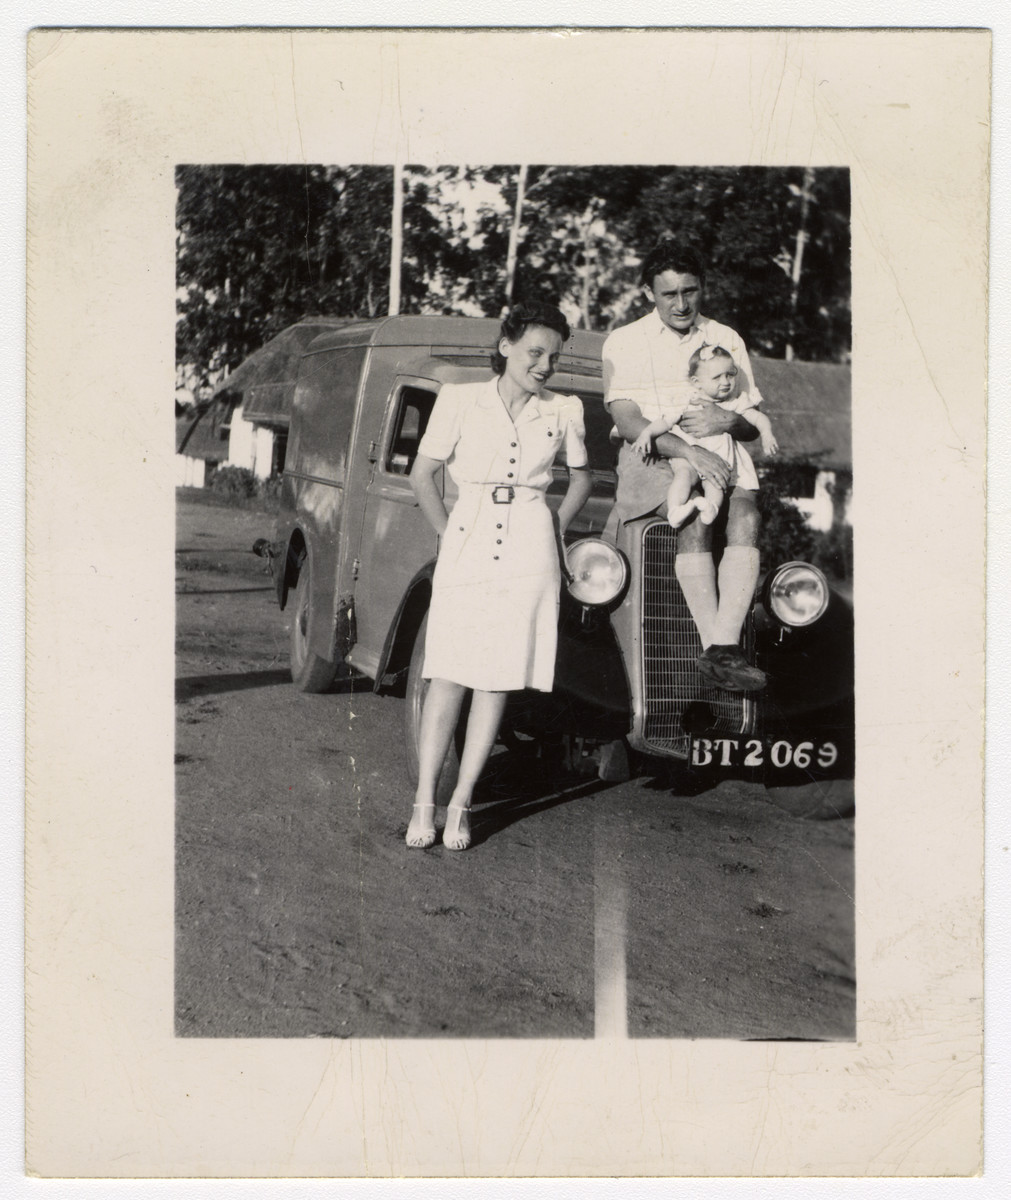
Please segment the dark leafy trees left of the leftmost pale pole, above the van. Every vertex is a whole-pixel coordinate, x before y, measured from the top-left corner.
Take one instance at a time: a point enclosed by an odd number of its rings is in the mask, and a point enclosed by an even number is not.
[[[178,167],[177,364],[203,386],[306,314],[373,316],[391,168]]]

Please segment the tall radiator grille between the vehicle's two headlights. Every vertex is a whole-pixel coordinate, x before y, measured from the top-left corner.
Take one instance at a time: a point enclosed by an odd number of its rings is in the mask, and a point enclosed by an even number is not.
[[[744,697],[711,688],[695,660],[702,643],[674,576],[677,534],[665,522],[642,532],[642,739],[653,749],[687,757],[688,734],[681,725],[693,701],[710,707],[713,728],[740,733],[746,727]]]

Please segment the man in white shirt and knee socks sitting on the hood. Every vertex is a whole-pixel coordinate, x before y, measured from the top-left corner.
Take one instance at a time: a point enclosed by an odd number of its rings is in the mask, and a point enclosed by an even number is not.
[[[653,311],[610,334],[603,352],[604,402],[623,439],[616,506],[624,521],[660,509],[666,499],[666,463],[641,462],[632,452],[632,443],[662,408],[671,407],[678,394],[690,392],[688,362],[699,347],[716,344],[729,350],[741,391],[756,391],[748,352],[738,335],[700,314],[706,270],[696,251],[670,240],[659,242],[642,264],[641,280]],[[730,433],[740,442],[752,440],[758,432],[738,413],[718,404],[689,408],[680,428],[693,438]],[[730,466],[719,455],[675,433],[658,437],[656,449],[664,458],[686,458],[701,480],[712,479],[723,488],[730,480]],[[765,686],[765,674],[750,666],[740,650],[741,629],[759,575],[761,522],[755,493],[741,487],[730,490],[719,523],[724,516],[719,577],[712,557],[713,527],[698,518],[678,532],[675,575],[702,640],[702,677],[729,691],[758,691]]]

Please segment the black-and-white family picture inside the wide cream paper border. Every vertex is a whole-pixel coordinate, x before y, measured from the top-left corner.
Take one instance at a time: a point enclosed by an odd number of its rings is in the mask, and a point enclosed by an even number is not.
[[[175,190],[175,1033],[851,1039],[849,170]]]

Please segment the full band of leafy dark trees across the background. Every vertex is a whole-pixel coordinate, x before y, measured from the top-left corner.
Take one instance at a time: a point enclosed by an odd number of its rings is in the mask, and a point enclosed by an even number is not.
[[[401,311],[497,316],[519,167],[408,167]],[[579,326],[641,316],[645,253],[665,234],[710,263],[705,311],[759,353],[849,354],[849,175],[842,168],[531,166],[515,299]],[[216,382],[304,316],[369,317],[389,304],[393,169],[177,168],[177,362]],[[792,310],[790,270],[803,222]]]

